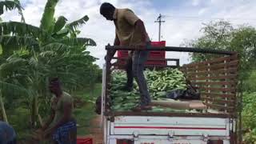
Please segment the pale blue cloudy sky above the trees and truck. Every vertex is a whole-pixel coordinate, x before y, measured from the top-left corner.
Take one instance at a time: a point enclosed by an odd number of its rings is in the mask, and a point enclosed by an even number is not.
[[[1,1],[1,0],[0,0]],[[26,22],[39,26],[46,0],[20,0],[24,8]],[[102,2],[110,2],[117,8],[129,8],[145,23],[146,31],[152,41],[158,41],[158,23],[154,21],[159,14],[164,15],[161,40],[166,46],[181,46],[183,42],[202,35],[202,23],[227,20],[234,26],[247,24],[256,26],[255,0],[59,0],[55,17],[65,16],[73,22],[84,15],[89,21],[81,27],[79,37],[92,38],[97,46],[87,50],[102,67],[106,54],[105,46],[114,42],[114,22],[106,21],[99,14]],[[4,21],[20,21],[18,11],[2,15]],[[187,53],[168,52],[166,58],[179,58],[181,64],[190,62]]]

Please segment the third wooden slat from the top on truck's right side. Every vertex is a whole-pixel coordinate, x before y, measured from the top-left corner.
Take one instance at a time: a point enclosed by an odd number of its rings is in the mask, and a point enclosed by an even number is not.
[[[198,72],[188,72],[186,75],[195,76],[195,75],[208,75],[208,74],[237,74],[238,67],[230,68],[230,69],[221,69],[221,70],[213,70],[213,71],[198,71]]]

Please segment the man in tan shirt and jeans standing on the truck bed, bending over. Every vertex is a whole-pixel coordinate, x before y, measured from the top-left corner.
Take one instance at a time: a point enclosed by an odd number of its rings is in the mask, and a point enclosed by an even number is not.
[[[127,83],[122,90],[133,90],[134,78],[138,83],[141,103],[134,107],[134,111],[151,110],[149,106],[151,99],[143,74],[144,65],[148,57],[150,47],[150,38],[146,33],[144,23],[130,9],[117,9],[108,2],[102,3],[100,13],[106,20],[114,21],[115,39],[114,46],[134,46],[136,50],[129,51],[129,58],[126,63]],[[115,50],[110,51],[111,57]],[[110,59],[107,59],[109,61]]]

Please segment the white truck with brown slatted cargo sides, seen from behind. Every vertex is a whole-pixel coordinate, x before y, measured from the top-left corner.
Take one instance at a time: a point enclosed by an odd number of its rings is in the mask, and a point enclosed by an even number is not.
[[[114,58],[110,58],[110,50],[134,49],[130,46],[106,46],[106,50],[106,57],[113,60]],[[104,144],[240,143],[238,142],[238,131],[241,129],[238,122],[238,54],[232,51],[173,46],[152,46],[149,50],[214,55],[212,59],[204,62],[191,62],[178,66],[191,84],[200,91],[199,103],[203,106],[193,106],[193,101],[186,101],[188,105],[185,108],[194,110],[186,113],[111,110],[109,96],[111,71],[122,69],[123,64],[119,63],[118,66],[118,62],[106,61],[102,73],[101,106]],[[161,68],[168,67],[166,62],[163,63]]]

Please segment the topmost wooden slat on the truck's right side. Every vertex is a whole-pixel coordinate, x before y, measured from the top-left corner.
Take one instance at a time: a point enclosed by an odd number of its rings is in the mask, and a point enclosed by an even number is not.
[[[227,57],[221,57],[221,58],[214,58],[214,59],[211,59],[211,60],[206,60],[205,62],[193,62],[193,63],[187,64],[187,65],[184,65],[184,67],[194,68],[195,66],[204,66],[208,63],[210,63],[210,64],[223,63],[225,60],[226,61],[230,61],[230,60],[233,61],[233,60],[236,60],[236,59],[238,59],[238,55],[234,54],[234,55],[227,56]]]

